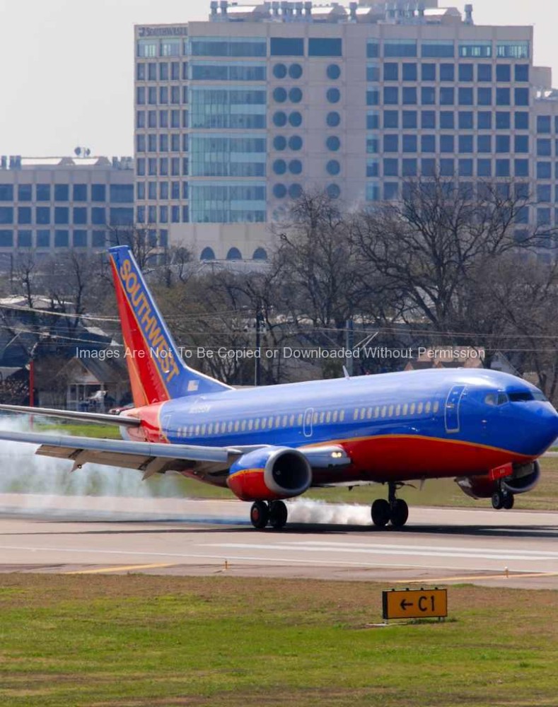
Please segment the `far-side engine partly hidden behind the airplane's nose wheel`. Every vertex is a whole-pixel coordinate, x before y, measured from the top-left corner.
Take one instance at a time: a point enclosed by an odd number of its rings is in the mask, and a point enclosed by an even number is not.
[[[503,467],[490,469],[488,474],[455,479],[458,486],[471,498],[490,498],[493,493],[503,489],[508,493],[527,493],[535,488],[540,479],[539,462],[527,464],[504,464]]]

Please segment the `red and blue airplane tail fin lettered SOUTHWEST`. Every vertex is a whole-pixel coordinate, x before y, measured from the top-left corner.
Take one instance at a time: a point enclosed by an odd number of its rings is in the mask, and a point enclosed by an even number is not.
[[[129,247],[109,253],[134,405],[230,390],[182,361]]]

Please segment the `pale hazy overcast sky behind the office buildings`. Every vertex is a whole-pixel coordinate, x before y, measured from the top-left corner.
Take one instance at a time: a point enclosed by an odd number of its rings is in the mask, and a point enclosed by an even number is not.
[[[477,25],[535,25],[535,63],[558,82],[554,0],[471,1]],[[0,0],[0,154],[131,155],[133,25],[208,12],[209,0]]]

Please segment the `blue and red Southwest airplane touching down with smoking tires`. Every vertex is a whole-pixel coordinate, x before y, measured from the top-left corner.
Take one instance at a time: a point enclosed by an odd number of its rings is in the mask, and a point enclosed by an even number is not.
[[[385,484],[373,525],[400,528],[397,491],[411,481],[455,478],[496,509],[540,479],[538,458],[558,437],[558,413],[540,390],[493,370],[383,373],[236,389],[182,360],[127,246],[109,250],[134,407],[118,416],[15,405],[0,410],[110,423],[122,440],[0,431],[40,445],[37,454],[178,472],[252,501],[258,530],[286,525],[285,500],[308,489]]]

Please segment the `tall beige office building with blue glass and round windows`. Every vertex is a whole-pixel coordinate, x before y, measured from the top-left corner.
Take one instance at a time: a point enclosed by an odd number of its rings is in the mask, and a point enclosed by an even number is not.
[[[397,199],[440,173],[513,180],[558,224],[558,92],[533,28],[438,0],[211,2],[136,27],[136,219],[201,259],[265,259],[302,189]]]

